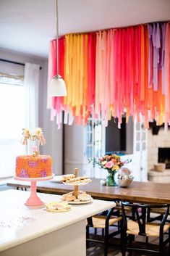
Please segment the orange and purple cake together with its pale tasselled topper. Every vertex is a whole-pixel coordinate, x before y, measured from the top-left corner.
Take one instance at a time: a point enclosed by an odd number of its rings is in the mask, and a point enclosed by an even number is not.
[[[38,141],[39,144],[45,144],[43,131],[36,128],[33,135],[29,129],[25,128],[22,132],[22,144],[27,146],[27,141]],[[49,155],[41,155],[38,147],[33,146],[33,154],[20,155],[16,157],[15,175],[19,178],[44,178],[52,176],[52,158]]]

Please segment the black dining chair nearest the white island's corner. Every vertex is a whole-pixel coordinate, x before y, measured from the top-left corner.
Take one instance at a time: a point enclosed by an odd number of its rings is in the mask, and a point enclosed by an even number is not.
[[[121,234],[122,230],[122,216],[119,215],[119,211],[114,208],[102,212],[99,215],[94,215],[88,218],[88,224],[86,226],[86,241],[87,247],[89,241],[96,241],[104,244],[104,256],[108,255],[109,239],[111,237]],[[112,227],[112,230],[111,230]],[[90,234],[91,228],[94,229],[94,234]],[[98,239],[97,229],[101,228],[102,233]],[[91,237],[93,236],[93,237]]]

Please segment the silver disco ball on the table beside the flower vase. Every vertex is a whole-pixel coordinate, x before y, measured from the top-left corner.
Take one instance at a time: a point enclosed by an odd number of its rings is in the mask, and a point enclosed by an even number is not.
[[[131,170],[125,167],[120,168],[114,176],[116,184],[120,187],[129,186],[132,183],[133,178],[134,176],[132,175]]]

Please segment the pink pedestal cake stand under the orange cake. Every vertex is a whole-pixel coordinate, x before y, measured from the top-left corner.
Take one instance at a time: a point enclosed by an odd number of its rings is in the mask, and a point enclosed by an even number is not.
[[[41,199],[37,195],[37,181],[48,181],[51,180],[54,177],[54,174],[52,176],[42,177],[42,178],[20,178],[20,177],[14,177],[17,181],[30,181],[30,197],[27,199],[27,202],[25,202],[25,205],[27,206],[41,206],[44,205],[44,203],[41,201]]]

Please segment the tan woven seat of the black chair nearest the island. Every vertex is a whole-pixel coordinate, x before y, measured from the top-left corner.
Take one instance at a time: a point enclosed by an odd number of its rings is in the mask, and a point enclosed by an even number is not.
[[[117,221],[122,220],[122,217],[111,216],[109,219],[109,226],[113,225]],[[106,227],[106,216],[104,215],[95,215],[92,217],[93,228],[105,228]]]

